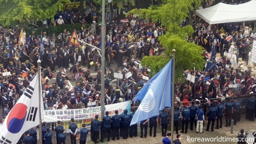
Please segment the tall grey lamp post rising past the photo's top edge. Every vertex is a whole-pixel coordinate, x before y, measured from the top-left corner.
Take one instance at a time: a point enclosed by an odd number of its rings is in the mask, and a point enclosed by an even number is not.
[[[101,120],[104,117],[105,107],[105,0],[102,0],[102,41],[101,41]]]

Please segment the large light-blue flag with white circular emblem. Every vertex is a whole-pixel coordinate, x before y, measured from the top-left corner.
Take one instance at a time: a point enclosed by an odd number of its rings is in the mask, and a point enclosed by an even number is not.
[[[159,111],[165,107],[171,107],[172,66],[171,59],[135,96],[134,102],[136,100],[142,100],[142,102],[130,125],[158,115]]]

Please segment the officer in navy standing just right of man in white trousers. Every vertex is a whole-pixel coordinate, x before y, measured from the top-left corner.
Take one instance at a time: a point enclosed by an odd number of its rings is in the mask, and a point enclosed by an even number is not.
[[[209,111],[207,113],[208,123],[207,123],[206,131],[209,131],[210,123],[211,122],[212,122],[211,132],[214,131],[214,122],[215,122],[215,120],[217,118],[217,113],[218,113],[217,108],[214,107],[213,103],[211,103],[211,108],[209,109]]]

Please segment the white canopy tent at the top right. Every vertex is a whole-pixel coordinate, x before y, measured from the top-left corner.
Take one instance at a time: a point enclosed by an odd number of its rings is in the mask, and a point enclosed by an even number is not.
[[[256,20],[256,0],[238,5],[219,3],[196,10],[196,15],[209,24],[252,21]]]

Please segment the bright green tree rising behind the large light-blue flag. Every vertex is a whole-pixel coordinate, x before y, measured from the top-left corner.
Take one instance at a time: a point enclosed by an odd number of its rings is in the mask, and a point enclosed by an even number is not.
[[[175,81],[183,78],[186,69],[203,68],[202,49],[200,46],[187,42],[185,38],[194,32],[192,26],[180,27],[181,21],[189,17],[189,12],[197,8],[201,0],[164,0],[160,6],[151,6],[148,9],[133,9],[133,13],[142,18],[153,19],[154,22],[161,21],[166,27],[166,34],[159,37],[164,48],[163,56],[144,57],[142,65],[151,69],[153,76],[161,70],[172,57],[172,49],[175,53]],[[167,60],[166,60],[167,59]]]

